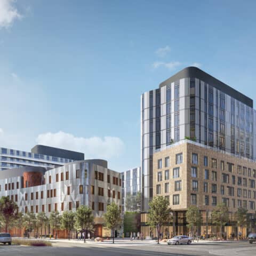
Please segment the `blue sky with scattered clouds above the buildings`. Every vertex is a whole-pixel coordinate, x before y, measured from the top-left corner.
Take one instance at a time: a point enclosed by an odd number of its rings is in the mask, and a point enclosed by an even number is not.
[[[0,147],[140,165],[140,96],[196,66],[256,100],[256,1],[0,0]]]

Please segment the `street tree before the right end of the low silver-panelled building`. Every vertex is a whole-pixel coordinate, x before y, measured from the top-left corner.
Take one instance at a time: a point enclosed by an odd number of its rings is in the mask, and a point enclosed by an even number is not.
[[[114,244],[115,229],[122,223],[121,210],[119,210],[119,207],[115,202],[112,202],[107,206],[107,212],[104,214],[104,219],[106,226],[111,229]]]

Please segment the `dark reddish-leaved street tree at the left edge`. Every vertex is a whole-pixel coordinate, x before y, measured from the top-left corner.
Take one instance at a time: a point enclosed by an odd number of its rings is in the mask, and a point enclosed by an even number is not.
[[[7,196],[0,199],[0,216],[7,232],[11,223],[18,217],[18,205]]]

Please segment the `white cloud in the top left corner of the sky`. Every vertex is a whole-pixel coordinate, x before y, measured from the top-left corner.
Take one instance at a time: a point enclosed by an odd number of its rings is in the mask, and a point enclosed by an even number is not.
[[[0,0],[0,28],[8,28],[15,19],[21,19],[22,15],[14,7],[14,0]]]

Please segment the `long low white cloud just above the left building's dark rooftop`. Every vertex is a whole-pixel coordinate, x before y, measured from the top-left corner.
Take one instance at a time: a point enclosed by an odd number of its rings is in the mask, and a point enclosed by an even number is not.
[[[36,142],[41,145],[82,152],[85,159],[118,157],[124,150],[124,142],[118,137],[84,138],[62,131],[39,134]]]

